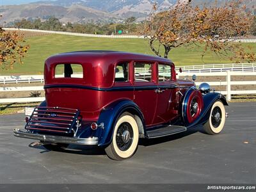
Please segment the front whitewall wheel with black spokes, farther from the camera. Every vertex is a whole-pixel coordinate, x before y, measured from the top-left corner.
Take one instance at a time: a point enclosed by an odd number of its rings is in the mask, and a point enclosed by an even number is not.
[[[218,134],[222,131],[226,120],[226,111],[220,100],[214,102],[211,108],[209,119],[204,124],[204,131],[207,134]]]

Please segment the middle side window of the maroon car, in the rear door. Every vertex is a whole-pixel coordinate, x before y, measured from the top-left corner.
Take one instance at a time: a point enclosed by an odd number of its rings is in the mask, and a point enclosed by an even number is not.
[[[134,82],[152,82],[152,63],[134,63]]]

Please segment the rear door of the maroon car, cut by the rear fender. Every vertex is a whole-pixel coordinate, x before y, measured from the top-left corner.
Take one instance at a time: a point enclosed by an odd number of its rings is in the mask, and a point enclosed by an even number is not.
[[[152,125],[156,111],[156,63],[134,61],[133,67],[134,102],[141,109],[148,127]]]

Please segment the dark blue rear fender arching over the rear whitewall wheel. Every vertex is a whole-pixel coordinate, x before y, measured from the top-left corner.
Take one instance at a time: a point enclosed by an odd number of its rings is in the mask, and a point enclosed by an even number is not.
[[[113,129],[119,116],[125,111],[133,111],[138,115],[144,125],[144,117],[140,108],[132,100],[116,100],[102,109],[97,124],[104,124],[104,129],[97,129],[96,136],[99,138],[99,146],[109,145],[113,138]],[[131,113],[131,112],[130,112]]]

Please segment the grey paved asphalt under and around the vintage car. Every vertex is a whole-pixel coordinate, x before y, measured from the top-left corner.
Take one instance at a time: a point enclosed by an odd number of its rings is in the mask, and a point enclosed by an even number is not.
[[[141,141],[127,161],[112,161],[95,148],[29,147],[32,140],[12,136],[24,116],[0,116],[0,183],[255,183],[256,103],[230,104],[227,111],[221,134],[199,127]]]

